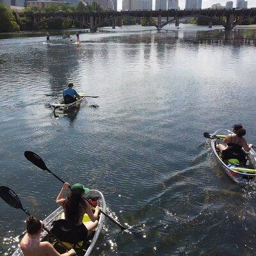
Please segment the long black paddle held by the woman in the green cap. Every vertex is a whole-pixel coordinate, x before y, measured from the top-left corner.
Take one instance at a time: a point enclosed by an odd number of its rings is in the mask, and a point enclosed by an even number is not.
[[[34,152],[25,151],[24,152],[24,156],[26,157],[26,159],[28,159],[28,161],[30,161],[31,163],[35,164],[35,166],[39,167],[40,169],[42,169],[44,171],[47,171],[47,172],[51,173],[55,178],[60,180],[63,184],[65,183],[64,180],[60,179],[60,177],[58,177],[56,174],[51,172],[51,170],[49,170],[47,168],[47,166],[45,165],[45,163],[42,160],[42,158],[40,156],[36,155]],[[84,200],[86,200],[86,202],[88,202],[90,205],[92,205],[92,203],[88,199],[84,198]],[[101,210],[100,210],[100,212],[103,215],[105,215],[109,220],[113,221],[116,225],[118,225],[118,227],[120,227],[122,230],[127,229],[127,227],[122,226],[118,221],[116,221],[113,217],[109,216],[106,212],[101,211]]]

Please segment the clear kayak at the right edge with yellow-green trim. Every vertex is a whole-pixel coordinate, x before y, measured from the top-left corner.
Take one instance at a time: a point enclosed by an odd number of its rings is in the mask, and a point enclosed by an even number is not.
[[[225,136],[232,134],[233,132],[227,129],[218,129],[214,134],[214,139],[211,140],[212,150],[221,164],[221,167],[227,175],[234,180],[237,184],[249,184],[256,180],[256,154],[253,149],[250,152],[246,152],[246,163],[239,163],[237,159],[224,160],[221,156],[220,150],[216,148],[216,145],[223,143]],[[245,151],[244,151],[245,152]]]

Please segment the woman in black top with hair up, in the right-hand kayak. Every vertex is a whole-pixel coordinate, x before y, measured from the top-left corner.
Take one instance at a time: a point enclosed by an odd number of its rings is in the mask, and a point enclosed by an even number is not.
[[[247,141],[243,138],[243,136],[246,134],[246,130],[243,128],[243,125],[234,124],[233,132],[234,134],[228,134],[225,137],[223,141],[225,145],[218,144],[216,145],[216,148],[221,151],[223,159],[228,160],[235,158],[244,164],[246,154],[242,148],[244,148],[246,152],[249,152],[253,145],[248,145]]]

